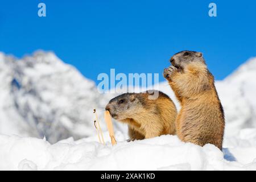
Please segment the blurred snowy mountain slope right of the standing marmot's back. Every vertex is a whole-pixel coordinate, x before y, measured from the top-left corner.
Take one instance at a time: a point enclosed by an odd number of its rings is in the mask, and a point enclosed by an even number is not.
[[[256,127],[256,57],[249,59],[216,87],[224,106],[226,134]]]

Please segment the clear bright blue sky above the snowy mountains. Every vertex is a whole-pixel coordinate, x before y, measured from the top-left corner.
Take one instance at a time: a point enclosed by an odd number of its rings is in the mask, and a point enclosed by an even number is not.
[[[47,16],[39,18],[38,3]],[[217,17],[208,16],[210,2]],[[54,51],[97,82],[99,73],[160,73],[170,57],[204,53],[216,79],[256,56],[255,1],[1,1],[0,51]]]

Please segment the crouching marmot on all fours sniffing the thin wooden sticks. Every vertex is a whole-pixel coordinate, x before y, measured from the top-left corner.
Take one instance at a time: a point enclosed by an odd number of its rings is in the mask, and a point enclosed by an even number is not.
[[[151,100],[152,92],[158,97]],[[166,94],[150,90],[144,93],[125,93],[109,101],[106,110],[117,121],[129,125],[130,140],[175,134],[177,110]]]

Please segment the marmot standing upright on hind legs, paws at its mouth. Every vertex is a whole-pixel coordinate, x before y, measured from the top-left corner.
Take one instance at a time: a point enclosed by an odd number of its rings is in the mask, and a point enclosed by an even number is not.
[[[177,136],[199,146],[211,143],[221,150],[224,111],[203,54],[181,51],[170,61],[172,65],[164,69],[164,77],[181,104],[176,119]]]

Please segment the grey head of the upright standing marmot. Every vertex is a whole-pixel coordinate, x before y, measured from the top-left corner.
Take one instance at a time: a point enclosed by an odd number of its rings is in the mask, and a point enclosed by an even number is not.
[[[196,51],[181,51],[171,57],[171,64],[178,69],[183,69],[185,65],[197,62],[205,64],[203,53]]]

